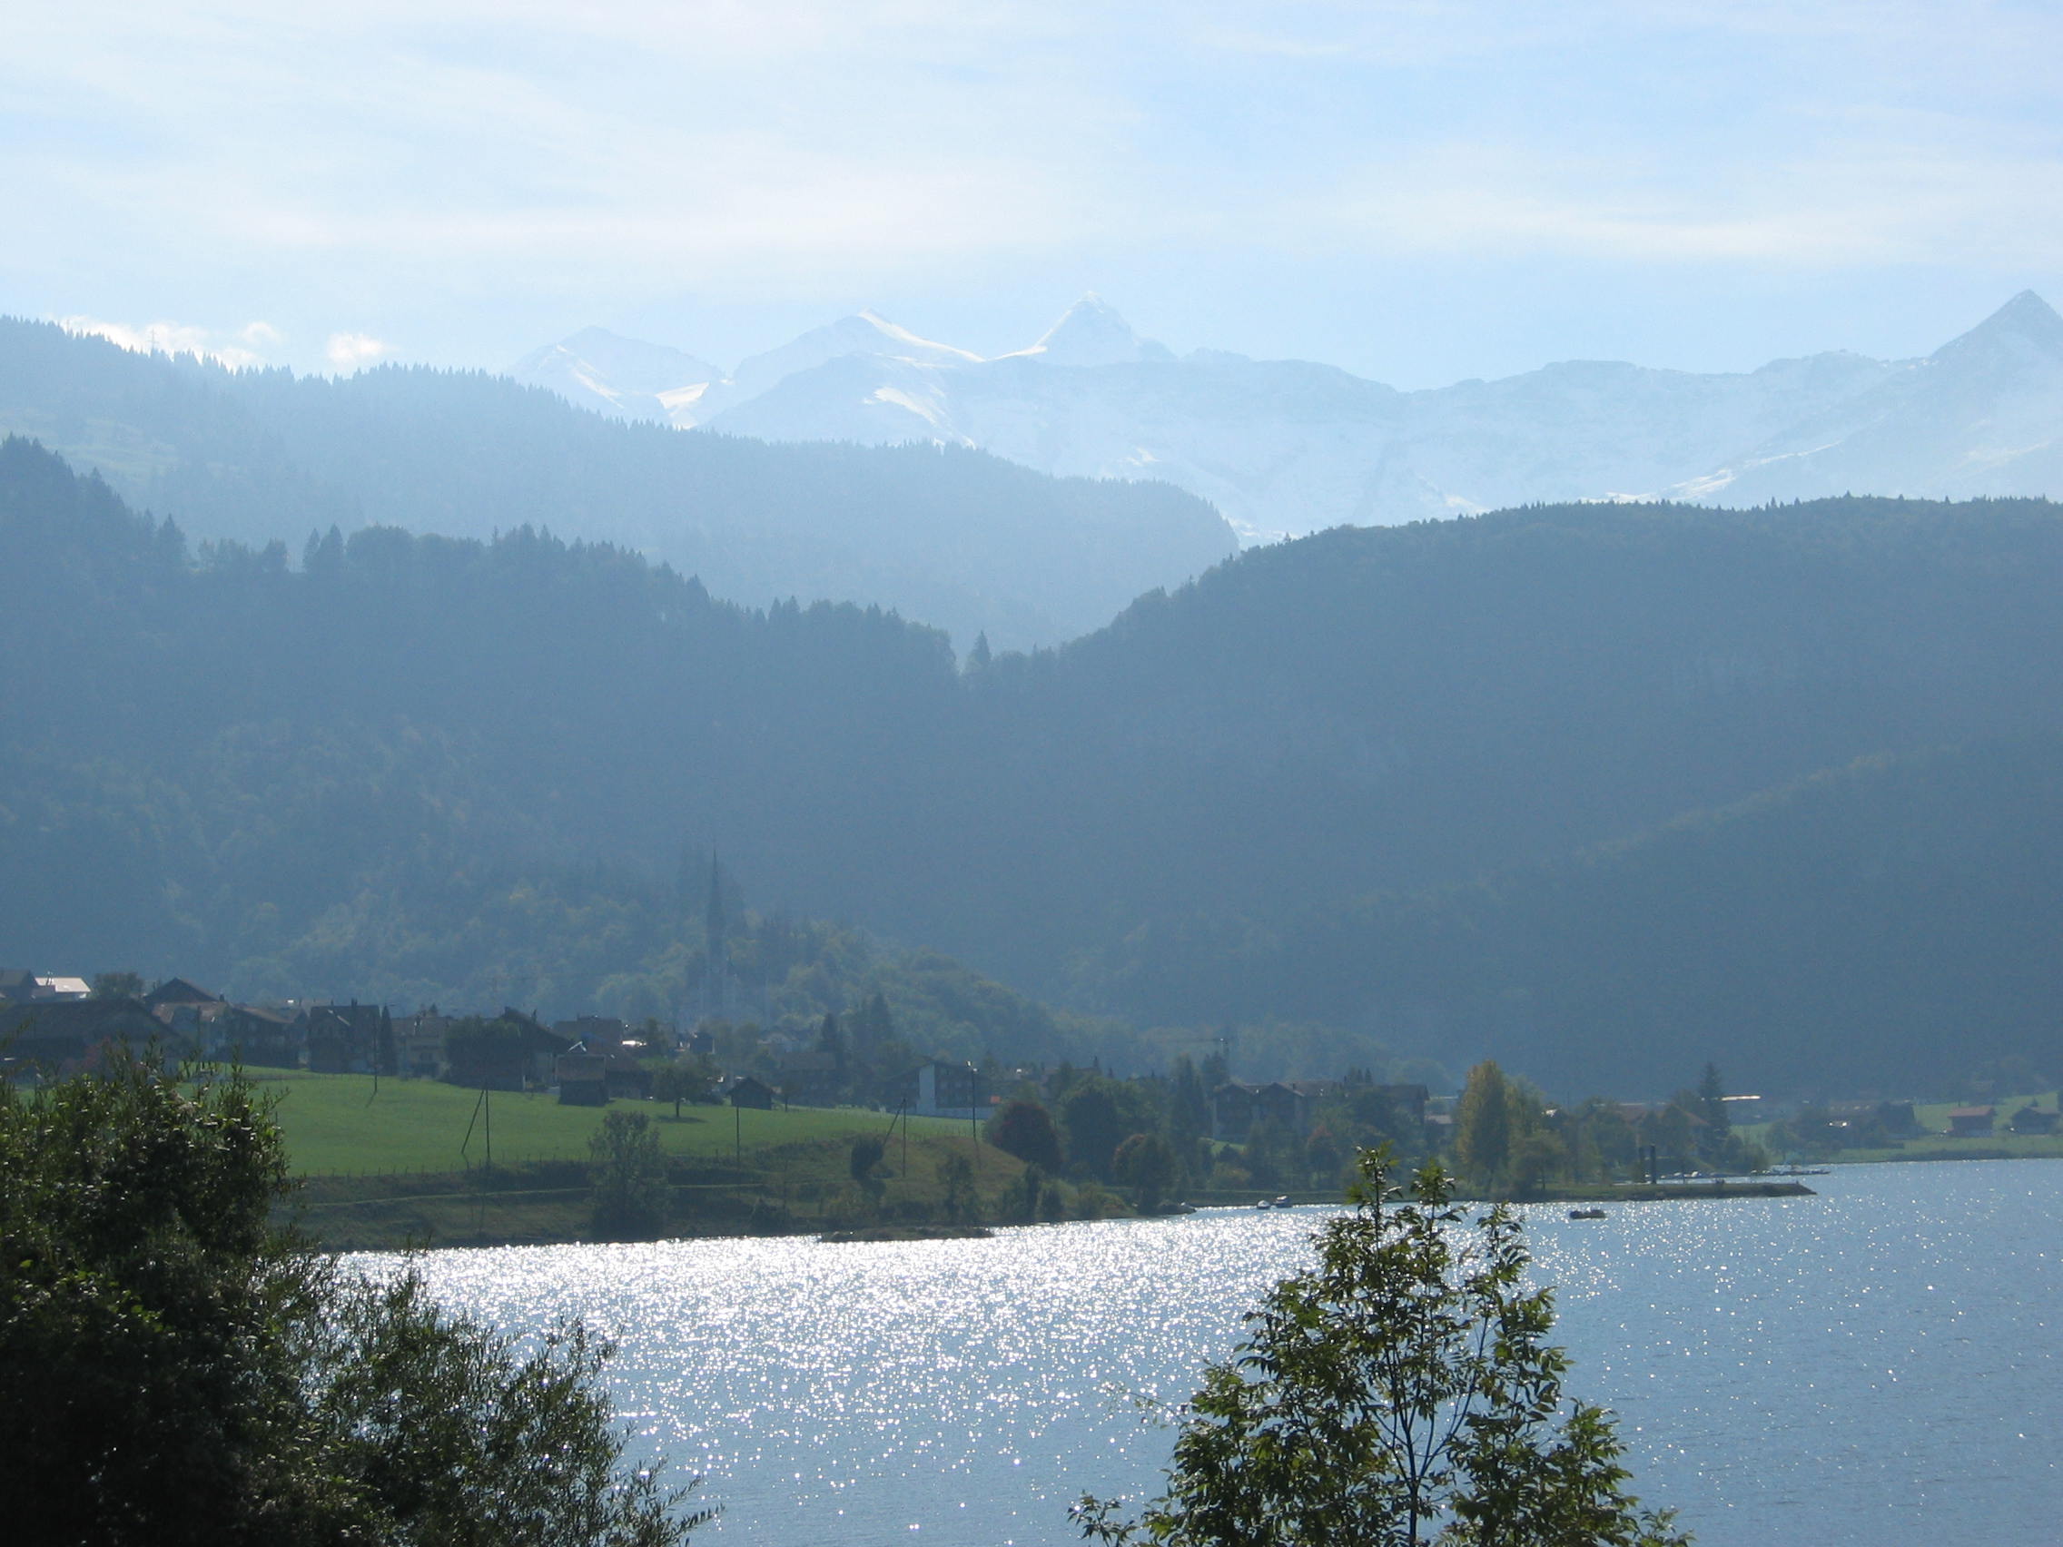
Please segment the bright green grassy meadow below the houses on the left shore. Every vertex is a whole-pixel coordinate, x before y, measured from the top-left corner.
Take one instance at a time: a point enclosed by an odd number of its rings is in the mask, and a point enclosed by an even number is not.
[[[464,1172],[487,1159],[487,1118],[493,1120],[495,1165],[526,1161],[584,1161],[588,1139],[607,1108],[559,1106],[543,1093],[495,1091],[481,1112],[481,1093],[427,1079],[371,1075],[307,1075],[301,1071],[250,1071],[260,1089],[279,1097],[287,1153],[301,1176],[382,1176],[392,1172]],[[848,1143],[854,1134],[885,1132],[887,1114],[856,1108],[796,1108],[739,1112],[687,1106],[675,1120],[673,1106],[617,1101],[619,1110],[652,1116],[660,1145],[670,1155],[728,1159],[743,1141],[745,1157],[759,1151]],[[470,1128],[470,1137],[468,1137]],[[968,1124],[910,1118],[912,1137],[968,1137]]]

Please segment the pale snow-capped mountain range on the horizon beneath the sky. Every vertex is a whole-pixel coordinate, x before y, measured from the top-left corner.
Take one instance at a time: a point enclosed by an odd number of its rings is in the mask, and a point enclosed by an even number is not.
[[[1244,540],[1533,501],[2063,493],[2063,318],[2032,291],[1925,359],[1840,351],[1710,375],[1564,361],[1426,392],[1306,361],[1178,359],[1093,295],[996,359],[862,311],[728,375],[600,328],[512,375],[683,429],[1159,479]]]

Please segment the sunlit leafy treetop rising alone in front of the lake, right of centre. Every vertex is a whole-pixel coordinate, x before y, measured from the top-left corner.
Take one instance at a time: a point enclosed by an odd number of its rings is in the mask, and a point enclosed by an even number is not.
[[[1364,1153],[1355,1211],[1316,1238],[1182,1415],[1168,1491],[1139,1520],[1075,1508],[1085,1537],[1166,1547],[1677,1547],[1626,1493],[1611,1417],[1566,1401],[1525,1287],[1516,1215],[1467,1225],[1438,1163],[1413,1196]]]

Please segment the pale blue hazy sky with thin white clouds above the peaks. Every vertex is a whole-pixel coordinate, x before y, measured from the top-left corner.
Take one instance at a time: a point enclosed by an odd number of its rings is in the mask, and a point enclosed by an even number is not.
[[[2055,0],[10,4],[0,311],[299,367],[722,365],[1100,291],[1397,386],[2063,303]]]

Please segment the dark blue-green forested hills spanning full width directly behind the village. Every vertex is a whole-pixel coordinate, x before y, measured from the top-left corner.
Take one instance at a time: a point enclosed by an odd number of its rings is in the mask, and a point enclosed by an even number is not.
[[[1137,1027],[1626,1093],[2055,1062],[2046,501],[1335,530],[965,662],[526,528],[188,545],[23,441],[0,555],[35,959],[664,1009],[716,850]]]

